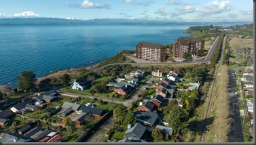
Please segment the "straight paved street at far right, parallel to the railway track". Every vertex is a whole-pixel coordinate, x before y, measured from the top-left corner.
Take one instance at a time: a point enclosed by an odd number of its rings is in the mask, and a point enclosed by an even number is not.
[[[228,96],[230,98],[230,116],[232,118],[232,123],[230,125],[230,131],[227,136],[228,142],[244,142],[244,137],[242,136],[242,123],[239,111],[239,98],[235,96],[236,92],[236,77],[233,77],[232,74],[236,70],[245,67],[234,68],[229,71],[230,82],[228,86]]]

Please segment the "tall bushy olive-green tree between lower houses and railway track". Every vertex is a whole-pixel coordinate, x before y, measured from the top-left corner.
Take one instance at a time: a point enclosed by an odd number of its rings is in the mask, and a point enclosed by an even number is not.
[[[176,136],[179,136],[183,129],[187,128],[188,112],[181,106],[172,106],[168,117],[169,126],[175,131]]]

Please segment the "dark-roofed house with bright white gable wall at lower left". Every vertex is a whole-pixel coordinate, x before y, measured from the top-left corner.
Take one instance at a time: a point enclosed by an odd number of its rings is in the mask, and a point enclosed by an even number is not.
[[[31,102],[21,102],[20,104],[14,105],[11,110],[12,112],[17,112],[24,115],[28,110],[39,110],[39,106],[31,104]]]

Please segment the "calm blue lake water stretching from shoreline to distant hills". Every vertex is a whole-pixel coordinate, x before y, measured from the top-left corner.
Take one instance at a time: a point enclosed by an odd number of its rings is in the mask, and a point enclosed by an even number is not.
[[[177,25],[30,25],[0,26],[0,85],[16,86],[16,77],[33,70],[93,66],[139,42],[175,43],[189,24]]]

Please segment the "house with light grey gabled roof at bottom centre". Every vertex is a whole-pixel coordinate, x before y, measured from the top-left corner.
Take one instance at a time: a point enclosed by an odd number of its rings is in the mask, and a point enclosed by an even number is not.
[[[124,133],[126,138],[132,138],[136,137],[141,139],[143,137],[143,134],[146,131],[146,127],[141,125],[141,123],[136,123],[133,127],[128,128],[126,132]]]

